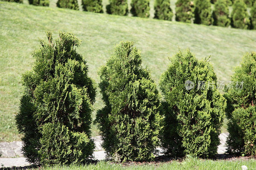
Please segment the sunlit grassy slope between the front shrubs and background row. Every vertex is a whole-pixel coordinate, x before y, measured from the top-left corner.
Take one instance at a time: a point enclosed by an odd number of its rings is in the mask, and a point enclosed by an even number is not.
[[[77,51],[88,60],[89,75],[96,80],[98,68],[113,53],[113,44],[121,40],[136,41],[143,65],[152,69],[156,82],[166,69],[166,57],[175,54],[178,47],[190,48],[198,58],[212,55],[211,61],[222,81],[229,80],[233,66],[245,52],[256,49],[256,31],[0,2],[2,141],[20,139],[14,121],[22,95],[20,76],[32,67],[30,53],[39,46],[38,38],[46,38],[46,29],[52,30],[55,37],[58,30],[62,30],[73,31],[82,39]],[[95,108],[102,106],[98,95]],[[92,131],[93,135],[97,134],[95,126]]]

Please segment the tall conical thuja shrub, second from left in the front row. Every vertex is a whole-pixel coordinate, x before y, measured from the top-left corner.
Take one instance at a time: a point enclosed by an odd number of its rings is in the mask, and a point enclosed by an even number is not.
[[[98,72],[105,107],[94,123],[99,123],[107,158],[114,161],[152,160],[159,145],[160,94],[141,62],[134,43],[121,41]]]

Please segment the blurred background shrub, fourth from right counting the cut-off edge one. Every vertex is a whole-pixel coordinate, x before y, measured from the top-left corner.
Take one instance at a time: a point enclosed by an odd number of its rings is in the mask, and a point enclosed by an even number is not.
[[[195,21],[196,24],[211,25],[213,23],[210,0],[195,0]]]

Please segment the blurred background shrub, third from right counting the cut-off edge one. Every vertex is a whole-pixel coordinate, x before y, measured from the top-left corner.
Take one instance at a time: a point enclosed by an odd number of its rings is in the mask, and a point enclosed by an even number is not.
[[[229,10],[226,0],[217,0],[214,5],[212,13],[213,25],[215,26],[229,26],[230,18],[228,18]]]

